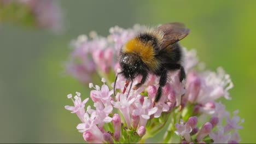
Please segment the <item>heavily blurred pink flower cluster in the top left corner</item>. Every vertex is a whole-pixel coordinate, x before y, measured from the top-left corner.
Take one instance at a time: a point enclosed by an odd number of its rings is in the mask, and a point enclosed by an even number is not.
[[[16,17],[7,17],[7,20],[16,19],[34,19],[34,25],[39,28],[50,28],[55,32],[61,31],[62,28],[62,16],[60,5],[53,0],[2,0],[3,8],[12,7],[13,4],[19,5],[19,9],[24,8],[33,16],[31,18],[21,17],[22,14],[19,11],[9,11],[9,13],[15,13]],[[24,13],[24,11],[22,11]],[[29,16],[31,16],[29,15]],[[27,15],[25,15],[27,16]]]

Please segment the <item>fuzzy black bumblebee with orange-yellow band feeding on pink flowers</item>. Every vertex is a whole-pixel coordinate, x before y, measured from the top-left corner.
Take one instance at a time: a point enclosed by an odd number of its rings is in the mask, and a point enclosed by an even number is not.
[[[178,41],[188,34],[189,29],[185,28],[183,23],[171,22],[157,28],[149,28],[127,41],[120,50],[121,71],[115,77],[114,95],[119,74],[125,77],[126,87],[131,82],[130,92],[136,76],[142,75],[142,80],[133,86],[133,89],[141,87],[146,82],[148,74],[151,73],[160,76],[159,88],[154,99],[157,103],[161,98],[162,87],[167,81],[167,71],[181,70],[179,80],[182,82],[185,79],[185,71],[181,65],[183,55]]]

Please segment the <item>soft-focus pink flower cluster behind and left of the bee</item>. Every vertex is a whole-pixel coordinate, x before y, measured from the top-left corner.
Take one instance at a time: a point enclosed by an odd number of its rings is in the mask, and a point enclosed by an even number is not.
[[[100,77],[106,77],[119,67],[118,55],[127,40],[144,27],[134,26],[132,29],[113,27],[109,29],[107,37],[101,37],[92,31],[89,38],[79,35],[71,42],[73,48],[69,61],[66,64],[67,73],[82,83],[89,83],[94,73]]]

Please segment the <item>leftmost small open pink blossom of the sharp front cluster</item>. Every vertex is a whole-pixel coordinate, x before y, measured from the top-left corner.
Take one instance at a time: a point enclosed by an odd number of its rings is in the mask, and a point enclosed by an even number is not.
[[[74,106],[69,106],[69,105],[66,105],[65,106],[65,109],[71,111],[71,113],[76,113],[77,116],[80,118],[80,120],[82,122],[84,122],[84,113],[85,113],[85,110],[84,110],[84,106],[85,104],[87,103],[88,99],[89,98],[86,98],[85,100],[81,100],[80,98],[80,93],[79,92],[76,92],[77,95],[74,96],[74,99],[72,98],[72,94],[68,94],[67,97],[69,99],[71,99],[74,103]]]

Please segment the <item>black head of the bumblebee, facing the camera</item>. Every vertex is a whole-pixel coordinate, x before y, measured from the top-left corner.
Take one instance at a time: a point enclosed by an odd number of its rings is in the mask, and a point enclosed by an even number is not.
[[[141,71],[141,58],[134,53],[120,53],[119,64],[125,79],[133,80]]]

